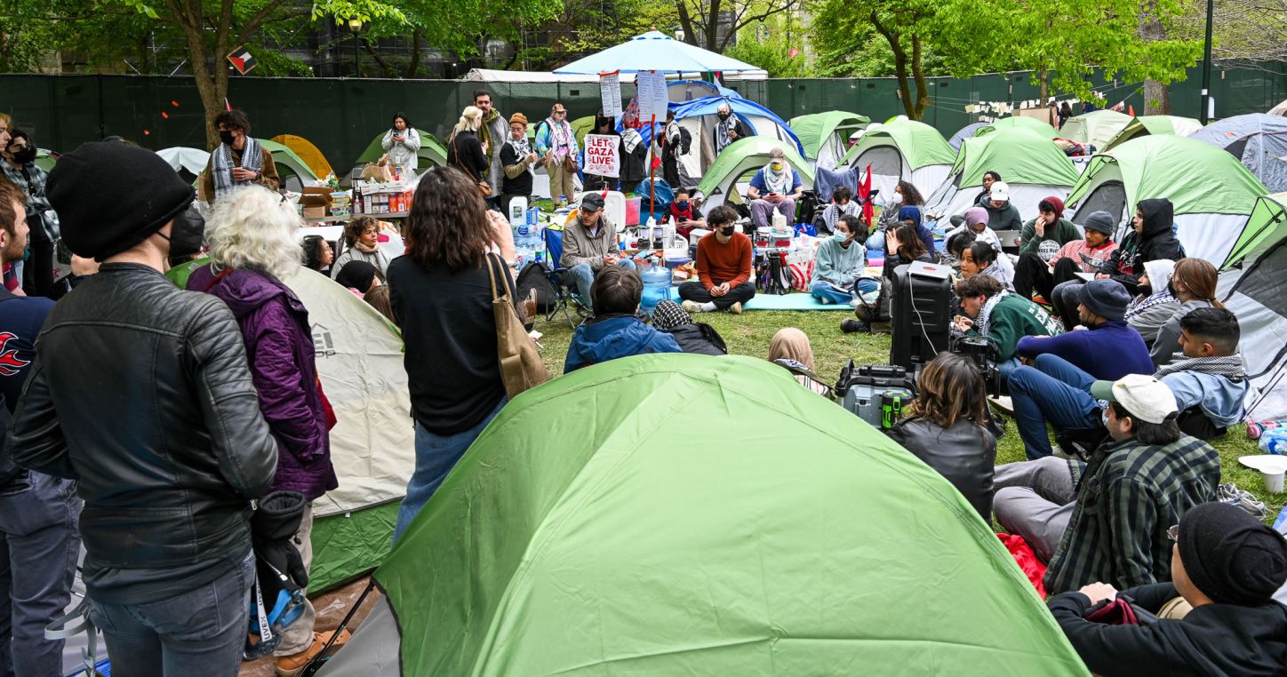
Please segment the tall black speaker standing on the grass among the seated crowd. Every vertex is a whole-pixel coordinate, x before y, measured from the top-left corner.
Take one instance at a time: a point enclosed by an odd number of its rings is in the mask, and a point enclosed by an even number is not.
[[[951,269],[946,265],[915,261],[893,270],[889,364],[919,373],[921,364],[947,350],[951,301]]]

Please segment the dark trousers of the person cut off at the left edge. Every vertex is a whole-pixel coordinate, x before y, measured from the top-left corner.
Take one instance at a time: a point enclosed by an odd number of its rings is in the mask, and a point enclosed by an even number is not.
[[[0,492],[0,674],[62,674],[45,626],[71,601],[80,537],[76,483],[28,472]]]

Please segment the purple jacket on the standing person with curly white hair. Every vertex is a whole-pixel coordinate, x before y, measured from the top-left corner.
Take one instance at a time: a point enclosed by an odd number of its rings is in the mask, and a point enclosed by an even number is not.
[[[270,490],[300,492],[313,501],[338,487],[304,304],[286,284],[255,270],[216,279],[203,265],[188,278],[188,290],[223,299],[241,324],[259,408],[277,440]]]

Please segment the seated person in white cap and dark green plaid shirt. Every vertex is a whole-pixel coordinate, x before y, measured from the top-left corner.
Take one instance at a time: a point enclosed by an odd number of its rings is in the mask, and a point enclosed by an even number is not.
[[[1133,373],[1099,381],[1094,396],[1108,402],[1112,441],[1089,463],[1048,456],[996,467],[996,521],[1048,562],[1051,595],[1169,579],[1167,528],[1220,484],[1220,453],[1180,432],[1166,384]]]

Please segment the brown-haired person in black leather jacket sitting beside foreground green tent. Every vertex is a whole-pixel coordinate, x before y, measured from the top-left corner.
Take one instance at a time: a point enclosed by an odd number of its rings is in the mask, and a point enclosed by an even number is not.
[[[986,422],[983,377],[969,358],[945,351],[920,372],[907,418],[887,434],[952,483],[988,521],[996,438]]]

